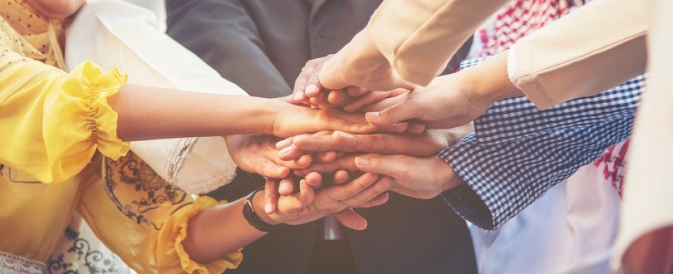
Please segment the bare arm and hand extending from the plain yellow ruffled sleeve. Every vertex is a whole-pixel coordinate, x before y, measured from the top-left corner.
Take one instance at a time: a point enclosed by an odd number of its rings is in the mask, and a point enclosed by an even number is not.
[[[323,129],[358,133],[376,129],[361,114],[315,110],[275,99],[133,84],[124,85],[109,98],[109,104],[119,117],[117,135],[126,141],[231,134],[287,137]]]

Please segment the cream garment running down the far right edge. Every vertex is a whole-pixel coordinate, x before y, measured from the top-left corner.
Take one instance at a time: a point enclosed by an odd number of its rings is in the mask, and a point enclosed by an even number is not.
[[[673,125],[673,1],[650,0],[648,7],[648,91],[638,109],[628,148],[624,203],[613,256],[615,269],[636,240],[657,229],[673,226],[673,127],[670,126]],[[659,249],[660,252],[672,251],[673,242],[663,239],[657,244],[652,242],[649,248],[657,250],[656,245],[665,246],[666,242],[669,247]]]

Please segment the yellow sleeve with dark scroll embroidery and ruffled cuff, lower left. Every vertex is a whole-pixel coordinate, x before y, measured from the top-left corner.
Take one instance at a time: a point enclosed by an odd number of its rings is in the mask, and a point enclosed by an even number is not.
[[[238,267],[240,250],[199,264],[183,247],[190,220],[225,201],[194,199],[168,184],[133,152],[117,161],[100,160],[95,156],[80,173],[83,191],[76,210],[106,247],[137,273],[220,274]]]

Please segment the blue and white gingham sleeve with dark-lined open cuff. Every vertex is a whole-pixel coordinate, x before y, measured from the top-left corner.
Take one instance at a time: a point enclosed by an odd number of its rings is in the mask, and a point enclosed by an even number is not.
[[[482,60],[466,60],[461,67]],[[497,229],[606,148],[626,140],[644,84],[643,75],[547,110],[526,97],[494,103],[475,120],[475,132],[440,152],[466,182],[442,197],[470,223]]]

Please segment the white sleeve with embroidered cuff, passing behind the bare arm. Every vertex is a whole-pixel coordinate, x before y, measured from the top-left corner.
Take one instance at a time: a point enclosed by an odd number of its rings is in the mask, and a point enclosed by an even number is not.
[[[163,1],[144,0],[161,7]],[[161,32],[165,14],[119,0],[89,0],[67,29],[66,64],[91,60],[128,72],[128,82],[196,92],[246,95],[205,62]],[[101,54],[105,53],[105,54]],[[150,102],[151,103],[151,102]],[[198,121],[194,121],[198,123]],[[223,138],[174,138],[133,142],[131,150],[163,179],[203,193],[233,179],[236,164]]]

